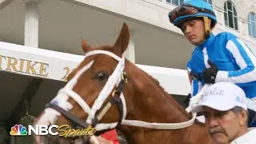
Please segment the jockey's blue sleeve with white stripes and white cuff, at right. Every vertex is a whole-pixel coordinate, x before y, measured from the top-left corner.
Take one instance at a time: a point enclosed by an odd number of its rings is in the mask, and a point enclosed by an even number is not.
[[[215,82],[232,82],[247,85],[256,81],[256,57],[250,48],[238,38],[232,38],[226,43],[226,49],[233,56],[240,70],[219,70]]]

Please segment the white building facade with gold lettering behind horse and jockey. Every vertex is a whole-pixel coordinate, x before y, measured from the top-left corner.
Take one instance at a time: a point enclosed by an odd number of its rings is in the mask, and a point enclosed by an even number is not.
[[[157,78],[169,94],[190,93],[186,62],[194,46],[168,18],[183,0],[0,2],[2,130],[24,115],[20,110],[24,99],[31,102],[30,114],[37,115],[54,98],[67,74],[82,61],[81,37],[92,46],[114,44],[122,22],[128,24],[131,35],[126,58]],[[256,54],[256,0],[206,2],[218,18],[214,34],[233,33]],[[0,142],[1,138],[6,136]]]

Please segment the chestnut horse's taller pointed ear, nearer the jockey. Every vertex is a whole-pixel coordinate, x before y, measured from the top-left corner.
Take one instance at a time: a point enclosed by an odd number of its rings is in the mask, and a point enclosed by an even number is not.
[[[117,41],[114,44],[114,53],[122,57],[122,54],[126,51],[130,40],[129,28],[126,23],[122,24],[122,30],[118,36]]]

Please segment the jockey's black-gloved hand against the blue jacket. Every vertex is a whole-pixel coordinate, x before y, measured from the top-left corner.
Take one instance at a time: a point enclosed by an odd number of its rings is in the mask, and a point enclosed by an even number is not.
[[[208,60],[210,68],[202,71],[202,78],[206,83],[215,83],[215,78],[218,73],[218,67]]]

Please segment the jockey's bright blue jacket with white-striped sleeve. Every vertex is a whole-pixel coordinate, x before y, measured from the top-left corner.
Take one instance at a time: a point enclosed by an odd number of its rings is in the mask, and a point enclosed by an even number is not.
[[[246,92],[247,98],[256,98],[256,57],[244,42],[226,32],[211,34],[195,48],[187,69],[202,77],[202,71],[210,67],[208,59],[218,66],[215,82],[232,82]],[[191,95],[195,96],[203,85],[203,81],[193,79]]]

